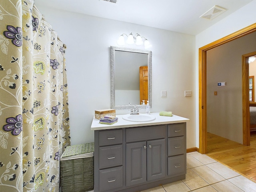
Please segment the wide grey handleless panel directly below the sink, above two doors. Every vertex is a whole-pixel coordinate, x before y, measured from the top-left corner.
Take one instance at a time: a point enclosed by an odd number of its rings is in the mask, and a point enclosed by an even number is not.
[[[126,128],[126,142],[145,141],[165,137],[165,125]]]

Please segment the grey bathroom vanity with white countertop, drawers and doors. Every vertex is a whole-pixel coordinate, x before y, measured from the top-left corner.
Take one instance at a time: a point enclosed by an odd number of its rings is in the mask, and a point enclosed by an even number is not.
[[[159,116],[112,125],[92,120],[94,192],[137,192],[186,178],[187,118]]]

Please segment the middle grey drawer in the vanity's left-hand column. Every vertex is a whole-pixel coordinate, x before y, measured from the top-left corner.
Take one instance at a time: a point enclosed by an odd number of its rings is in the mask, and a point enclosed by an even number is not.
[[[100,147],[99,166],[100,169],[120,166],[123,162],[123,145]]]

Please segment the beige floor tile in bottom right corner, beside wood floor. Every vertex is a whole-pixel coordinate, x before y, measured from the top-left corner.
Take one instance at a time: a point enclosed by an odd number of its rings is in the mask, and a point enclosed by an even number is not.
[[[244,190],[245,192],[256,191],[256,183],[252,182],[251,180],[247,179],[242,175],[228,179],[228,181],[232,182],[235,186],[238,186],[240,189]]]

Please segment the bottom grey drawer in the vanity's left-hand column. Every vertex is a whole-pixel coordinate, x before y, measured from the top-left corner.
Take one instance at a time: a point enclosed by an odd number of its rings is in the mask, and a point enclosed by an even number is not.
[[[123,186],[123,166],[100,170],[100,191]]]

